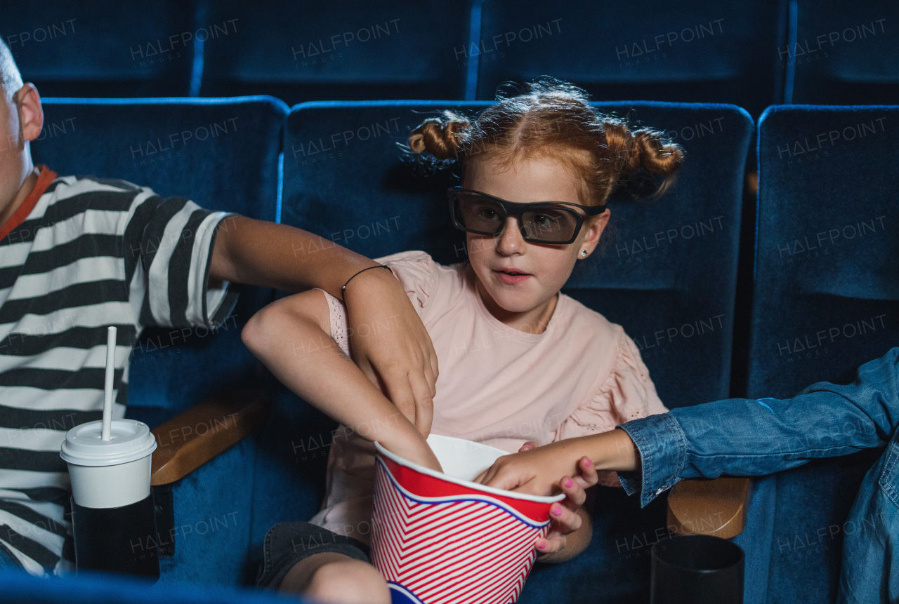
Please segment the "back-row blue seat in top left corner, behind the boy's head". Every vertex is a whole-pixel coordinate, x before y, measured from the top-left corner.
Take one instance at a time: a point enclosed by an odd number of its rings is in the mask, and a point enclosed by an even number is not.
[[[186,96],[193,2],[10,2],[0,35],[45,96]]]

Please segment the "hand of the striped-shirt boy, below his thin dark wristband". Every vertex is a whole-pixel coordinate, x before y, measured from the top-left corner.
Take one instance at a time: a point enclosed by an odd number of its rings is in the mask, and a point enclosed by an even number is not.
[[[383,268],[343,292],[353,361],[423,435],[431,432],[437,353],[402,284]],[[380,381],[378,381],[378,378]]]

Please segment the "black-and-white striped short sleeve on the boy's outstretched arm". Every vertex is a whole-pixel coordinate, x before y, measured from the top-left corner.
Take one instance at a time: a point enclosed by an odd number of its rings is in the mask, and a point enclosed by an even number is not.
[[[125,279],[143,326],[217,328],[234,308],[227,282],[209,288],[209,264],[226,212],[149,189],[135,197],[124,233]]]

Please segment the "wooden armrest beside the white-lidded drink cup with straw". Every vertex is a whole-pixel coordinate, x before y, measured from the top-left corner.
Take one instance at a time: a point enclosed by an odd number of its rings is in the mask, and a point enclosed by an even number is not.
[[[167,485],[225,451],[263,425],[269,402],[262,389],[219,392],[159,425],[150,484]]]

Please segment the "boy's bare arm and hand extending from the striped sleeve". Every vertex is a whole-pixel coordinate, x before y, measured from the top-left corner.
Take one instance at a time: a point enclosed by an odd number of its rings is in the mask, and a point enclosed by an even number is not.
[[[377,264],[310,232],[233,215],[218,227],[209,281],[289,292],[318,287],[343,299],[343,284],[361,269]],[[345,298],[351,333],[369,333],[370,329],[360,329],[363,325],[396,326],[379,330],[377,337],[351,337],[361,372],[372,381],[377,372],[406,416],[430,417],[437,355],[402,284],[389,271],[369,270],[352,280]]]

